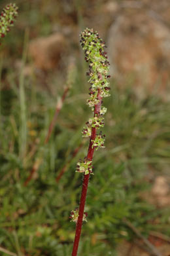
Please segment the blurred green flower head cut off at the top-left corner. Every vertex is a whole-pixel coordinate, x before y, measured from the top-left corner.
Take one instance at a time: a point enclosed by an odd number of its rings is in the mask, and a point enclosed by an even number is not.
[[[18,16],[18,7],[14,3],[7,5],[0,15],[0,38],[5,37],[13,26],[16,16]]]

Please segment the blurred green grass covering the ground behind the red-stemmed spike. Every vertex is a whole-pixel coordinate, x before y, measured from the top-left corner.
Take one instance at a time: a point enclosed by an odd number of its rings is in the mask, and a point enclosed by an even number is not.
[[[80,63],[76,66],[71,92],[46,146],[43,141],[56,97],[36,88],[31,79],[27,81],[24,77],[20,79],[20,86],[24,84],[22,94],[17,79],[8,90],[1,90],[0,244],[18,256],[71,255],[75,224],[69,222],[69,214],[78,206],[82,183],[75,167],[86,154],[88,141],[58,184],[55,178],[82,140],[80,131],[92,115],[86,105],[88,83],[84,82],[84,70]],[[12,75],[8,73],[9,81]],[[56,82],[52,86],[59,87]],[[116,255],[118,242],[133,239],[124,218],[146,236],[149,230],[169,234],[168,211],[157,210],[140,196],[150,188],[151,172],[167,173],[169,104],[155,96],[139,101],[129,89],[122,94],[116,81],[111,82],[111,88],[112,96],[105,100],[106,148],[95,152],[94,175],[88,190],[88,223],[83,226],[79,249],[82,256]],[[61,95],[62,91],[63,88],[58,88],[57,93]],[[24,96],[25,100],[21,99]],[[20,154],[23,125],[27,133],[25,152]],[[37,177],[24,187],[39,156],[43,162]],[[154,222],[156,217],[159,224]]]

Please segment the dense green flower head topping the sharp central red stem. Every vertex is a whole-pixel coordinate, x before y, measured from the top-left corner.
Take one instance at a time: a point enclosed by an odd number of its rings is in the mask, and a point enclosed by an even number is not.
[[[87,101],[90,107],[94,107],[99,100],[97,99],[98,90],[101,97],[105,98],[109,94],[109,61],[107,60],[107,52],[104,47],[105,42],[99,37],[99,34],[93,29],[86,28],[80,35],[80,44],[84,50],[85,60],[89,62],[90,76],[90,99]]]

